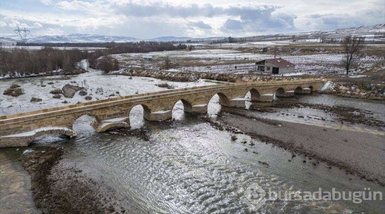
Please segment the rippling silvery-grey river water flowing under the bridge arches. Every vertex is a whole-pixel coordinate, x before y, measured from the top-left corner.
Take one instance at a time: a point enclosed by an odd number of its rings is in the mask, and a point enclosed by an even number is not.
[[[314,94],[299,102],[346,105],[381,114],[384,102],[337,98]],[[215,117],[221,107],[213,98],[208,114]],[[257,112],[256,112],[257,113]],[[61,163],[76,163],[88,177],[115,191],[123,207],[134,213],[255,213],[244,201],[251,201],[250,187],[258,184],[266,196],[287,191],[382,191],[373,182],[361,180],[337,168],[304,164],[292,153],[238,134],[214,129],[183,112],[178,103],[174,123],[143,120],[138,106],[130,115],[132,128],[146,126],[150,141],[106,132],[96,133],[83,116],[74,124],[78,137],[55,142],[65,147]],[[51,143],[40,138],[35,146]],[[240,141],[255,145],[240,144]],[[32,146],[33,147],[33,146]],[[249,152],[244,152],[247,147]],[[2,152],[2,150],[0,150]],[[266,164],[263,164],[266,163]],[[268,191],[271,190],[271,191]],[[283,196],[281,196],[283,197]],[[251,201],[256,204],[255,202]],[[17,210],[17,208],[15,208]],[[261,213],[383,213],[383,201],[351,200],[267,200]]]

